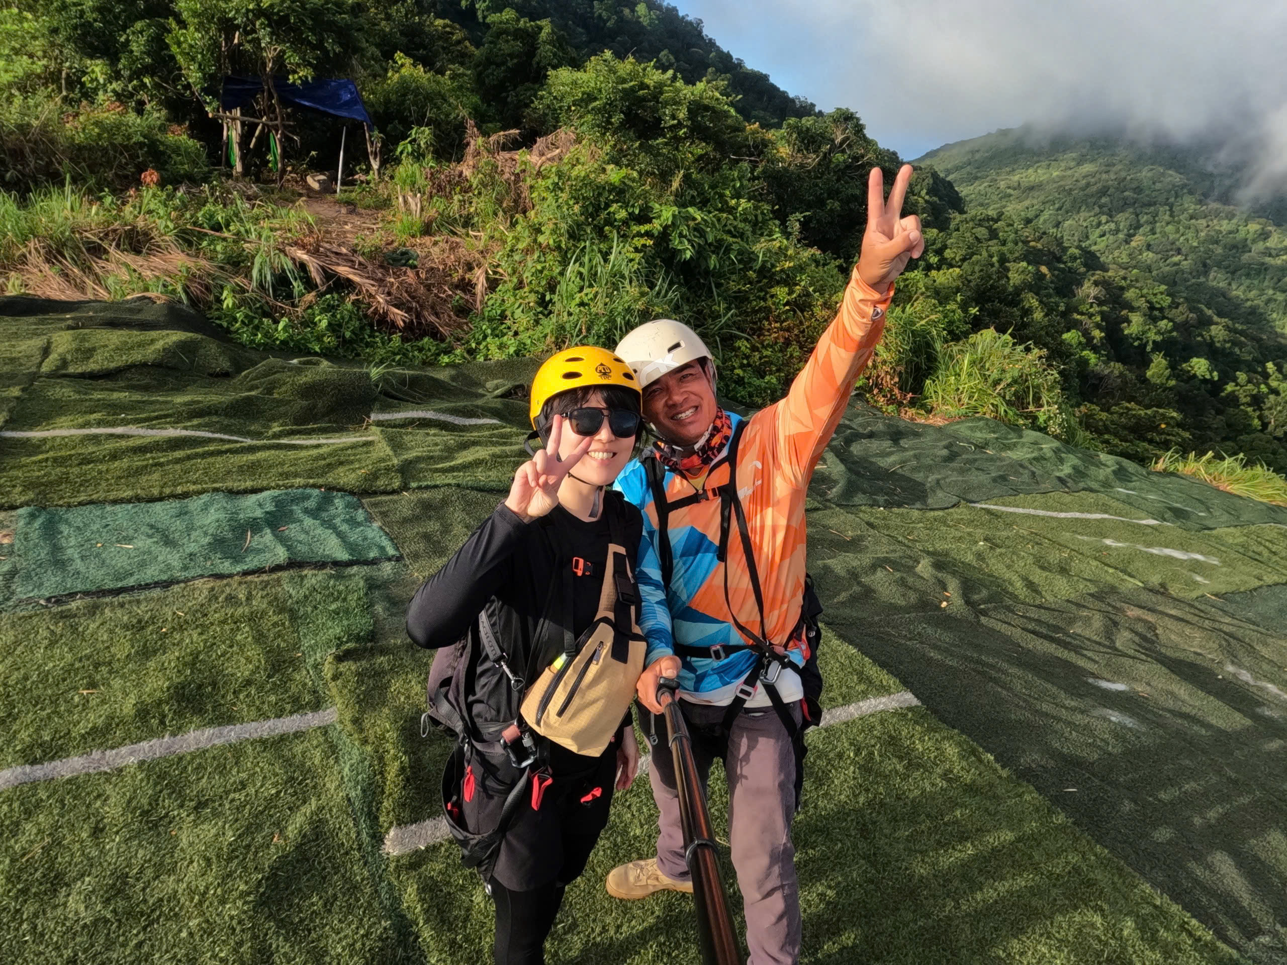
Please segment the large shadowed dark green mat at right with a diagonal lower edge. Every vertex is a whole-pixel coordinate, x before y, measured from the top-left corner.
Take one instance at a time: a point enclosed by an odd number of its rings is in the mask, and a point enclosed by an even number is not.
[[[828,619],[1144,880],[1277,965],[1287,638],[1266,616],[1284,609],[1282,585],[1219,600],[1124,588]]]

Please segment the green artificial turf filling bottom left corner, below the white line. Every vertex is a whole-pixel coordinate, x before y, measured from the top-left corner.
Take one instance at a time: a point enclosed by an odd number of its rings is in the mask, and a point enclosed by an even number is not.
[[[0,960],[416,961],[324,731],[0,794]]]

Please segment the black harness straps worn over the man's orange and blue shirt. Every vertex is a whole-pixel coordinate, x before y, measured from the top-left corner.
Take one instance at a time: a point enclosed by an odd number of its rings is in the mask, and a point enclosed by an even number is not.
[[[737,427],[732,432],[732,437],[728,440],[728,454],[726,462],[728,463],[728,481],[719,486],[717,493],[719,498],[719,548],[718,560],[725,562],[728,557],[728,538],[732,531],[734,525],[737,528],[739,538],[741,539],[743,555],[746,560],[746,571],[750,579],[750,588],[755,596],[755,606],[759,610],[759,628],[764,629],[764,596],[759,584],[759,569],[755,566],[755,552],[750,543],[750,530],[746,525],[746,515],[741,507],[741,497],[737,494],[737,446],[741,441],[741,434],[749,425],[750,419],[743,419],[737,423]],[[649,489],[653,493],[653,504],[656,507],[656,528],[658,528],[658,557],[662,564],[662,580],[663,585],[669,588],[671,576],[674,573],[674,553],[671,548],[671,531],[669,531],[669,516],[672,510],[678,510],[685,506],[692,506],[694,503],[704,502],[710,498],[710,493],[705,489],[694,493],[692,495],[683,497],[682,499],[669,501],[665,495],[665,467],[662,464],[660,459],[656,458],[656,453],[649,453],[642,459],[644,473],[647,477]],[[728,602],[728,573],[725,570],[725,601]],[[728,606],[728,612],[732,614],[732,605]],[[817,598],[817,592],[813,589],[813,578],[808,574],[804,575],[804,593],[801,601],[801,618],[797,624],[797,630],[793,630],[792,636],[798,630],[803,630],[806,642],[810,646],[808,659],[804,661],[803,666],[795,666],[789,663],[786,657],[775,654],[771,650],[770,641],[766,641],[762,636],[752,632],[749,628],[743,625],[741,620],[732,614],[734,627],[746,641],[744,648],[753,650],[759,655],[752,672],[746,674],[743,681],[741,687],[737,690],[737,696],[728,705],[728,710],[725,713],[723,721],[713,735],[708,735],[712,740],[714,750],[718,757],[727,755],[727,741],[728,732],[732,728],[734,721],[737,719],[737,714],[741,713],[746,701],[754,692],[754,685],[759,682],[764,687],[764,692],[768,695],[770,703],[773,705],[773,710],[777,712],[777,717],[781,719],[782,726],[792,737],[792,745],[795,749],[795,805],[799,807],[801,803],[801,790],[804,785],[804,732],[811,727],[816,727],[822,719],[822,708],[820,704],[822,696],[822,673],[817,665],[817,648],[822,639],[821,625],[819,624],[819,618],[822,614],[822,603]],[[713,647],[690,647],[683,643],[674,645],[674,652],[680,656],[696,656],[710,659],[714,655]],[[726,650],[719,647],[719,650]],[[777,687],[773,686],[773,681],[777,679],[779,669],[784,666],[790,666],[799,674],[801,685],[804,690],[804,700],[802,706],[802,721],[797,726],[790,712],[786,709],[786,704],[777,694]]]

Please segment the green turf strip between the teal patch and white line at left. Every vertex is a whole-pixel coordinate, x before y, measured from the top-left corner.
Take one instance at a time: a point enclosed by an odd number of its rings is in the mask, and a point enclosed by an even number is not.
[[[288,603],[300,574],[192,583],[0,618],[0,767],[318,710]],[[0,795],[3,796],[3,795]]]

